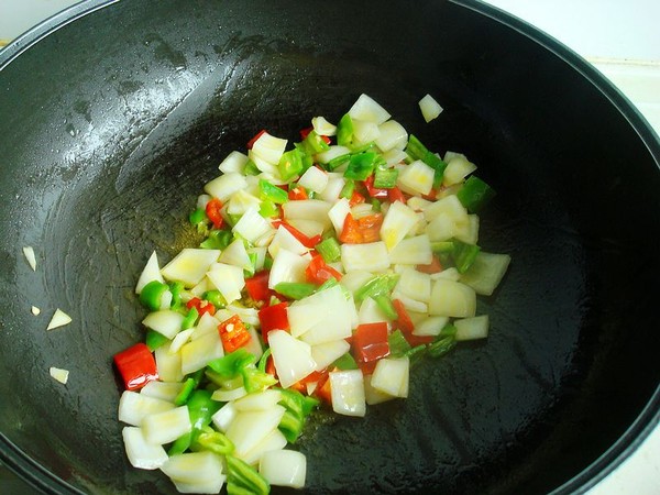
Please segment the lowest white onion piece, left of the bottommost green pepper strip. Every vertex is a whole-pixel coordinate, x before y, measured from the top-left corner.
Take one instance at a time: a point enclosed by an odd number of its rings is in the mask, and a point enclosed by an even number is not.
[[[219,493],[226,481],[222,458],[213,452],[172,455],[161,466],[182,493]]]

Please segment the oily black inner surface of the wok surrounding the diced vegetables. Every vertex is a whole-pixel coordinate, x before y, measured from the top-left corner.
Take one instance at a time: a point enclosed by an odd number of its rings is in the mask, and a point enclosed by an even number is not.
[[[306,493],[580,491],[657,422],[660,146],[576,56],[469,1],[101,4],[0,54],[0,451],[23,477],[174,492],[130,468],[116,420],[136,275],[185,245],[230,151],[337,121],[361,92],[480,166],[498,191],[480,244],[514,261],[479,302],[487,341],[416,367],[409,399],[308,432]],[[46,332],[55,308],[73,323]]]

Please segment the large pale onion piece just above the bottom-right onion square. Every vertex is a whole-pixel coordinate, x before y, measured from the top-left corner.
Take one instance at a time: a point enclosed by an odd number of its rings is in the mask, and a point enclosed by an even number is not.
[[[258,446],[277,428],[285,410],[277,405],[267,410],[239,411],[227,430],[227,438],[234,444],[235,454],[242,458]]]

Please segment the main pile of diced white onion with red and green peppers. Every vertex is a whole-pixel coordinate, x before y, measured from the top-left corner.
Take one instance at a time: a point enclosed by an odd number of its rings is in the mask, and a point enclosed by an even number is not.
[[[146,339],[114,356],[119,419],[131,464],[179,492],[304,486],[287,446],[314,409],[364,416],[407,397],[411,362],[488,333],[476,295],[510,258],[477,245],[494,193],[475,165],[366,95],[311,123],[293,147],[262,131],[230,153],[189,217],[204,242],[163,268],[154,252],[138,282]]]

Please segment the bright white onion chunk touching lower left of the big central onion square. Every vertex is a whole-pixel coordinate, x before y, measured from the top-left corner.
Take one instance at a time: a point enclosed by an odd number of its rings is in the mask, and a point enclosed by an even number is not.
[[[268,333],[268,344],[279,384],[287,388],[316,370],[308,343],[296,339],[284,330]]]

